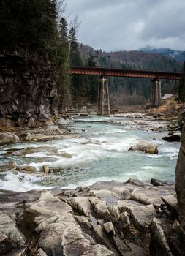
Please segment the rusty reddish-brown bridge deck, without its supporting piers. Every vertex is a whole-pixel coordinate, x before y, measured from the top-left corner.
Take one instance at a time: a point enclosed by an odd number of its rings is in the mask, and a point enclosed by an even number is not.
[[[115,69],[106,67],[70,67],[72,75],[99,75],[115,76],[125,78],[152,78],[152,79],[170,79],[179,80],[180,72],[165,72],[153,70],[135,70],[135,69]]]

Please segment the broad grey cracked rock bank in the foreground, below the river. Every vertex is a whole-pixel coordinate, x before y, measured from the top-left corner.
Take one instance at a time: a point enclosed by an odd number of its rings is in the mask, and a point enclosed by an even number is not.
[[[175,188],[152,183],[1,190],[1,255],[184,255]]]

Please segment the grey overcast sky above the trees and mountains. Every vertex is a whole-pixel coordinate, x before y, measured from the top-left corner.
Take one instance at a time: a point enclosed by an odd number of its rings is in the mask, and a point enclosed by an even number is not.
[[[185,0],[67,0],[78,42],[102,50],[185,50]]]

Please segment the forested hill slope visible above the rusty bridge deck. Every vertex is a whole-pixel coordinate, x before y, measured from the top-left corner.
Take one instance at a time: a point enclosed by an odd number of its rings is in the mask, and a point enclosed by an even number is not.
[[[83,64],[92,54],[97,66],[100,67],[118,67],[125,69],[151,69],[151,70],[169,70],[181,72],[181,63],[169,56],[162,54],[148,53],[144,50],[119,50],[116,52],[104,52],[94,50],[89,45],[79,44],[80,54]]]

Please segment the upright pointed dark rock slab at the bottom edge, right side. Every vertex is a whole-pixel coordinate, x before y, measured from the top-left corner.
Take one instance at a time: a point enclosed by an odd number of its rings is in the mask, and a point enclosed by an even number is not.
[[[151,223],[151,243],[149,247],[151,256],[173,256],[167,244],[165,232],[159,219],[154,218]]]

